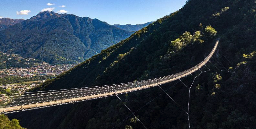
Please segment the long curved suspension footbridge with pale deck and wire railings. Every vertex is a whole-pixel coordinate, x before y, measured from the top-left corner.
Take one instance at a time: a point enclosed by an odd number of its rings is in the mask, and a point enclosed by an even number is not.
[[[45,108],[49,106],[74,103],[89,99],[97,99],[108,97],[136,90],[151,88],[168,82],[179,80],[189,74],[194,73],[204,66],[215,53],[219,39],[209,55],[196,66],[183,72],[172,74],[169,76],[137,81],[122,84],[104,85],[96,87],[85,87],[76,89],[50,90],[39,92],[27,92],[16,94],[0,95],[0,114],[12,113],[36,108]]]

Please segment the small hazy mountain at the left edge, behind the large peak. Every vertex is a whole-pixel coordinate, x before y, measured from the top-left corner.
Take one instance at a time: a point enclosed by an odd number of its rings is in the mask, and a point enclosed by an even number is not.
[[[20,23],[22,21],[24,21],[24,19],[1,18],[0,19],[0,31],[6,29],[16,23]]]

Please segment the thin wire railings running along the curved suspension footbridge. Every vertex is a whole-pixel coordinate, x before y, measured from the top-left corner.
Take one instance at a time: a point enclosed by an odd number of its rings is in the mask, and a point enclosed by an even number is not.
[[[28,92],[28,93],[15,93],[15,94],[1,94],[0,108],[15,107],[15,106],[50,102],[50,101],[56,101],[56,100],[73,99],[73,98],[106,94],[106,93],[116,93],[118,91],[133,89],[137,87],[143,87],[148,85],[156,86],[158,84],[167,83],[168,81],[174,81],[181,77],[187,76],[190,73],[193,73],[194,71],[202,67],[204,64],[206,64],[207,61],[211,58],[211,56],[215,52],[218,46],[218,43],[219,43],[219,39],[217,40],[212,51],[202,62],[180,73],[159,77],[155,79],[149,79],[149,80],[143,80],[143,81],[137,81],[137,82],[127,82],[127,83],[113,84],[113,85],[96,86],[96,87],[50,90],[50,91]]]

